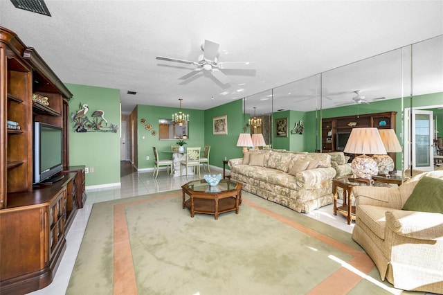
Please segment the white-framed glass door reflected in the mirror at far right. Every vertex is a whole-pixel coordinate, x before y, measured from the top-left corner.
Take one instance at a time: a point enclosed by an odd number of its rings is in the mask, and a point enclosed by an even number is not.
[[[413,109],[412,113],[412,163],[413,169],[434,170],[433,111]]]

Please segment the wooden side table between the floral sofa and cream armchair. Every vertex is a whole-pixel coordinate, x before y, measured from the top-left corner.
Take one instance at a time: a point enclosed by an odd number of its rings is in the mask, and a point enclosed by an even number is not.
[[[389,188],[390,184],[374,181],[374,184],[369,184],[367,181],[361,181],[351,177],[343,177],[332,179],[332,193],[334,193],[334,215],[337,212],[347,217],[347,224],[351,224],[351,220],[355,220],[355,206],[352,206],[352,188],[354,186],[378,186]],[[343,188],[343,205],[337,207],[337,188]]]

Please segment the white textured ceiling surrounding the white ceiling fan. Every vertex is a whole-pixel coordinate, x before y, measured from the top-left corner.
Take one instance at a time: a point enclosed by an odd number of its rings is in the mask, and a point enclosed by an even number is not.
[[[138,104],[178,107],[178,98],[183,108],[208,109],[443,34],[441,0],[45,2],[52,17],[0,0],[0,26],[63,82],[120,89],[123,114]],[[179,80],[195,66],[155,58],[197,61],[204,39],[220,44],[219,62],[254,62],[254,71],[225,70],[229,84],[204,71]],[[354,89],[381,88],[347,75],[323,95],[347,91],[343,101]]]

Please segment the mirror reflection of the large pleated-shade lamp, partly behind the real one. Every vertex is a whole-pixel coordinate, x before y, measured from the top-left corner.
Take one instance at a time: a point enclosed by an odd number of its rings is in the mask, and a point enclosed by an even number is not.
[[[401,152],[401,145],[394,129],[379,129],[379,134],[386,152]],[[394,160],[388,154],[374,154],[373,158],[379,166],[379,174],[388,177],[389,172],[394,170]]]

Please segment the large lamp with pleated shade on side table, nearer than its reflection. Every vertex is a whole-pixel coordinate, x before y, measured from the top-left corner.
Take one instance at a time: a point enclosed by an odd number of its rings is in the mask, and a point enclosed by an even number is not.
[[[356,177],[372,180],[379,173],[377,162],[365,154],[386,154],[379,130],[374,127],[353,128],[343,152],[360,154],[351,163]]]

